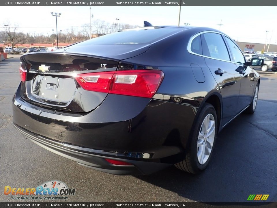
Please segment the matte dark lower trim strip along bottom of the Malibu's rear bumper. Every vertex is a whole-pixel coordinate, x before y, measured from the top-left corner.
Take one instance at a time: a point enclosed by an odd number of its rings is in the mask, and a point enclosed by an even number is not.
[[[136,161],[126,157],[126,159],[117,158],[122,157],[123,153],[105,152],[101,150],[94,150],[90,148],[80,148],[78,146],[65,144],[53,140],[49,140],[40,135],[36,135],[14,124],[15,128],[22,133],[22,135],[34,142],[35,144],[63,157],[77,162],[79,165],[107,172],[116,175],[141,175],[151,174],[171,164]],[[116,159],[133,164],[132,166],[113,165],[105,159]]]

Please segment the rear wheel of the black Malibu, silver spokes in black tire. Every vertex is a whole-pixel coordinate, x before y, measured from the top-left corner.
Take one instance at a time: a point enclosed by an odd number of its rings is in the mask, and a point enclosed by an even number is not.
[[[209,125],[205,125],[207,124],[207,121]],[[212,128],[207,129],[205,126]],[[206,129],[208,131],[206,131]],[[204,132],[211,134],[207,137]],[[192,174],[197,174],[204,170],[208,166],[209,160],[211,159],[216,141],[216,135],[216,111],[211,104],[206,103],[197,116],[196,122],[194,122],[193,128],[191,130],[190,145],[188,146],[186,158],[183,161],[176,163],[175,167]]]

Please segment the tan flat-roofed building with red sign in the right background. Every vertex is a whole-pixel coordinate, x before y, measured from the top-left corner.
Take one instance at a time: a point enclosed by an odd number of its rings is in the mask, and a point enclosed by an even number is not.
[[[265,47],[264,52],[277,52],[276,44],[264,44],[264,43],[249,43],[249,42],[237,42],[237,45],[242,51],[262,51]],[[268,49],[268,50],[267,50]]]

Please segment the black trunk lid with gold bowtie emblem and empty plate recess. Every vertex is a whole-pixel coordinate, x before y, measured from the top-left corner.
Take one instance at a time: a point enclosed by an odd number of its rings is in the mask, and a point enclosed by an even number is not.
[[[130,53],[122,50],[120,57],[123,59],[139,55],[147,49],[149,47],[144,47],[144,50],[140,48],[136,53],[133,49]],[[107,58],[76,51],[78,53],[55,51],[23,55],[21,67],[27,73],[26,81],[21,83],[22,97],[35,105],[71,112],[89,112],[98,107],[108,93],[85,90],[76,81],[76,76],[116,71],[119,54]],[[100,54],[104,55],[104,52]]]

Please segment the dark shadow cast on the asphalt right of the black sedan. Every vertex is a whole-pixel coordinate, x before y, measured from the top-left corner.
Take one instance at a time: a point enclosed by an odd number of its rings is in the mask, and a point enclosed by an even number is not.
[[[276,200],[277,142],[248,123],[249,117],[238,116],[219,133],[209,166],[199,175],[172,166],[136,178],[194,201],[245,202],[250,194]]]

